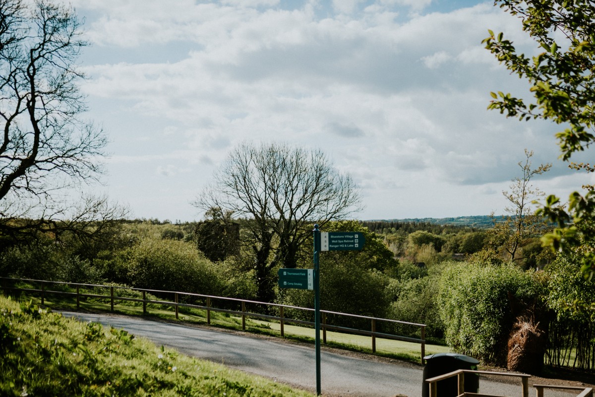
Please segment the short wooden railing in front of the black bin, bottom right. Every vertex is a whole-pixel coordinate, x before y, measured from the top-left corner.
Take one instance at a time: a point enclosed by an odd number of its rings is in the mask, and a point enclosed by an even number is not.
[[[518,377],[521,378],[521,396],[522,397],[529,397],[529,378],[531,375],[527,374],[511,374],[511,373],[503,373],[503,372],[491,372],[491,371],[473,371],[473,370],[456,370],[449,372],[447,374],[443,374],[440,376],[435,376],[433,378],[426,379],[425,382],[430,383],[430,397],[437,397],[438,390],[437,390],[437,382],[444,379],[449,379],[450,377],[456,376],[458,377],[458,396],[457,397],[499,397],[494,395],[486,395],[480,393],[471,393],[465,392],[465,374],[483,374],[483,375],[494,375],[494,376],[509,376],[509,377]],[[558,389],[558,390],[579,390],[580,393],[577,397],[593,397],[593,389],[590,387],[579,387],[579,386],[552,386],[552,385],[533,385],[537,390],[537,397],[544,397],[543,390],[544,389]],[[506,396],[500,396],[506,397]]]

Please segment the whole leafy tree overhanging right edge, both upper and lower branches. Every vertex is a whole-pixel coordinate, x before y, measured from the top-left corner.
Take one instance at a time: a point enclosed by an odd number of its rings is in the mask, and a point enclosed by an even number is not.
[[[595,142],[592,133],[595,126],[595,5],[588,0],[503,0],[499,4],[521,18],[523,30],[544,51],[528,58],[518,54],[503,33],[495,35],[489,31],[490,36],[484,40],[486,48],[509,70],[528,80],[534,101],[527,104],[525,99],[515,98],[510,93],[491,93],[494,99],[488,108],[520,120],[541,118],[564,126],[556,137],[562,152],[560,157],[568,161],[572,154]],[[590,164],[570,166],[595,171]],[[551,195],[539,211],[558,226],[543,239],[543,243],[556,252],[571,254],[574,248],[595,237],[592,228],[585,227],[595,217],[594,187],[584,187],[590,191],[584,196],[572,193],[567,210],[560,208],[559,198]],[[584,273],[592,276],[595,254],[584,250],[580,260]]]

